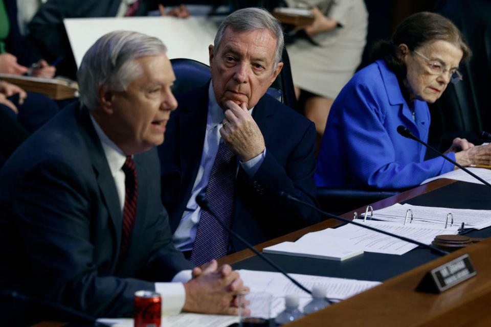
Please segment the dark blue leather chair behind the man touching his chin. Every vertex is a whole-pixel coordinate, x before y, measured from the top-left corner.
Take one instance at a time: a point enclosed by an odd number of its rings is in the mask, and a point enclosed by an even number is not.
[[[170,60],[174,69],[174,94],[181,94],[193,88],[205,85],[211,78],[210,67],[192,59],[176,58]],[[293,86],[292,71],[286,50],[282,54],[283,68],[267,90],[267,94],[285,105],[297,110],[297,100]]]

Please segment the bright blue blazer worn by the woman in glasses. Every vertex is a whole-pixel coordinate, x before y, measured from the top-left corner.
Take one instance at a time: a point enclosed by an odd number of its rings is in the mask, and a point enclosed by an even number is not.
[[[317,186],[399,189],[454,169],[441,157],[423,160],[426,148],[399,135],[399,125],[427,141],[430,111],[423,101],[408,104],[395,74],[378,60],[356,73],[332,104]],[[455,159],[455,153],[449,156]]]

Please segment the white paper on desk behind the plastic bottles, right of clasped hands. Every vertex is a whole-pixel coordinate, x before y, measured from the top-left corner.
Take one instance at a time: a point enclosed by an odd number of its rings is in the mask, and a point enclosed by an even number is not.
[[[240,277],[245,285],[249,286],[251,292],[268,292],[273,294],[271,305],[271,316],[276,317],[284,310],[287,294],[298,294],[300,297],[300,309],[302,309],[312,298],[309,294],[294,285],[288,278],[279,272],[239,270]],[[358,281],[356,279],[324,277],[302,274],[288,274],[308,289],[314,285],[322,285],[326,288],[327,297],[335,300],[342,300],[355,294],[366,291],[380,282]]]

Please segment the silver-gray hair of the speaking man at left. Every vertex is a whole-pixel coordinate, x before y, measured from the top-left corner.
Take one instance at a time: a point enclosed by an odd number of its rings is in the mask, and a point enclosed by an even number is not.
[[[140,74],[135,59],[165,54],[166,46],[156,37],[130,31],[101,36],[83,56],[77,72],[80,102],[90,109],[99,107],[97,90],[124,91]]]

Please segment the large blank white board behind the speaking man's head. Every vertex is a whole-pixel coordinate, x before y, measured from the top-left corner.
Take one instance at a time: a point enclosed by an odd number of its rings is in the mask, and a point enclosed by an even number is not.
[[[117,31],[135,31],[157,37],[167,46],[167,57],[189,58],[209,64],[208,45],[213,44],[217,22],[209,17],[104,17],[65,18],[66,34],[80,66],[83,55],[102,35]]]

